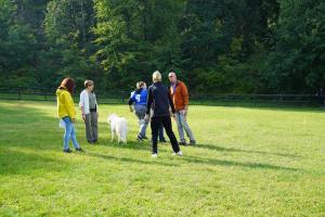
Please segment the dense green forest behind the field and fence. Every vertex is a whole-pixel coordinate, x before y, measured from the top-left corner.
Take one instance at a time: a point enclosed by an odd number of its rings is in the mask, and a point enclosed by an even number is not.
[[[324,63],[324,0],[0,0],[2,88],[174,69],[192,93],[314,93]]]

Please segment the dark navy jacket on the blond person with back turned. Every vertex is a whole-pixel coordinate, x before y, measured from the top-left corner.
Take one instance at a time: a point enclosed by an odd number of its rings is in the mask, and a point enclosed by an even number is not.
[[[169,89],[161,82],[155,82],[148,88],[146,114],[153,108],[153,117],[169,116],[169,106],[174,113],[173,102]]]

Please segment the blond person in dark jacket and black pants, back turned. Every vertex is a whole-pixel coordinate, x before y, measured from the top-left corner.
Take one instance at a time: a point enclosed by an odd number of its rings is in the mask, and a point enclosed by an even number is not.
[[[153,157],[157,157],[158,154],[158,130],[159,127],[164,126],[166,133],[171,142],[173,150],[172,155],[182,156],[183,153],[180,150],[178,140],[172,131],[171,118],[169,107],[171,107],[172,115],[174,115],[174,106],[171,100],[168,88],[161,82],[161,74],[156,71],[153,74],[154,84],[148,88],[147,95],[147,108],[145,114],[145,119],[150,119],[151,110],[153,108],[153,116],[151,122],[152,136],[153,136]]]

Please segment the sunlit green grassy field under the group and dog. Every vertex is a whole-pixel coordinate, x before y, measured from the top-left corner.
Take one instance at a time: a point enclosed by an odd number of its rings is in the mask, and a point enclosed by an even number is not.
[[[94,146],[79,118],[86,153],[64,154],[55,108],[0,101],[0,216],[325,216],[324,110],[192,106],[198,144],[152,158],[127,105],[100,107]],[[127,145],[109,142],[110,113]]]

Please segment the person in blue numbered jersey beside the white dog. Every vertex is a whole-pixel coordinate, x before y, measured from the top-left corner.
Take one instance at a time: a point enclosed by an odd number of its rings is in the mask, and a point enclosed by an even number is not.
[[[134,113],[139,118],[140,131],[136,137],[139,141],[143,141],[147,139],[145,136],[145,130],[148,125],[148,122],[144,120],[145,112],[146,112],[146,98],[147,98],[147,89],[146,84],[143,81],[136,82],[135,91],[131,92],[131,97],[129,100],[130,112],[133,112],[132,104],[134,103]]]

